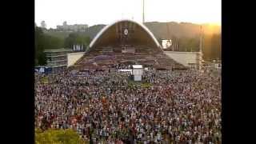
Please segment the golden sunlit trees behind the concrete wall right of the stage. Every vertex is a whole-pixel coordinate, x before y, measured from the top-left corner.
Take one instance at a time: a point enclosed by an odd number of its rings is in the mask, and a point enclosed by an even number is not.
[[[176,38],[172,37],[172,46],[166,50],[174,51],[199,51],[200,38]],[[205,34],[202,39],[203,59],[221,59],[222,58],[222,36],[221,34]]]

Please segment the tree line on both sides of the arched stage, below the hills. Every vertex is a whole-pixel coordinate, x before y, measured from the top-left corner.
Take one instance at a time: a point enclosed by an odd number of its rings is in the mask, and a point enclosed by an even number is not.
[[[159,40],[161,41],[161,40]],[[200,38],[194,37],[171,37],[172,46],[166,50],[175,51],[199,51]],[[70,48],[80,45],[84,48],[90,44],[90,37],[80,33],[70,33],[68,37],[61,38],[44,33],[44,30],[35,26],[35,66],[46,64],[46,49]],[[205,34],[202,40],[203,59],[206,61],[222,58],[222,36],[221,34]]]

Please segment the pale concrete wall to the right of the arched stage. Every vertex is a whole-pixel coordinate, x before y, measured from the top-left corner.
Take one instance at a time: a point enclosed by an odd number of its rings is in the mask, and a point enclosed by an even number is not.
[[[189,63],[200,65],[199,52],[165,51],[165,54],[173,58],[174,61],[181,63],[183,66],[190,66]]]

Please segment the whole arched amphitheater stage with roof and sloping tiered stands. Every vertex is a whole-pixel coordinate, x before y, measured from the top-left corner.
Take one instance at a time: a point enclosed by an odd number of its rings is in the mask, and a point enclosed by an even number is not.
[[[112,22],[100,30],[82,58],[70,68],[91,70],[133,64],[166,70],[185,68],[164,54],[158,40],[146,26],[129,19]]]

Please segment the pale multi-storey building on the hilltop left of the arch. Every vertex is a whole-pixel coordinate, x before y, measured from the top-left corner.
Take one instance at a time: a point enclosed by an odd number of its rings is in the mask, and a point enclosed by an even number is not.
[[[67,25],[67,22],[63,22],[62,26],[57,26],[57,30],[61,30],[61,31],[74,31],[74,32],[78,32],[78,31],[86,31],[86,28],[88,28],[88,25],[84,24],[84,25],[80,25],[80,24],[74,24],[74,25]]]

